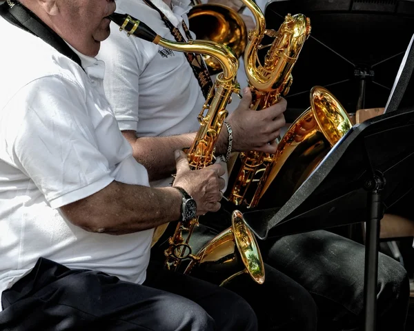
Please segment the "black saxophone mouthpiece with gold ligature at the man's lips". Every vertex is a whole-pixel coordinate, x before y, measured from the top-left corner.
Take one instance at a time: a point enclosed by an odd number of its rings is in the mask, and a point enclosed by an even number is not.
[[[154,30],[146,25],[146,23],[135,19],[128,14],[119,14],[114,12],[108,16],[112,22],[119,26],[119,30],[125,30],[128,34],[133,34],[135,37],[150,41],[151,43],[158,43],[161,38]]]

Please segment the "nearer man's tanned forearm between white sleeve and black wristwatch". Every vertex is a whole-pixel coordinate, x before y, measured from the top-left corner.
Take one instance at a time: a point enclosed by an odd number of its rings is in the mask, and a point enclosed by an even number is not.
[[[181,217],[175,188],[148,188],[113,181],[103,190],[61,208],[75,225],[90,232],[127,234]]]

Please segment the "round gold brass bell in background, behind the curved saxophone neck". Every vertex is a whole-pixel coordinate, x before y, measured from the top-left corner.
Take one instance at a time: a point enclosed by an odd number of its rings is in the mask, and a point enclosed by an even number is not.
[[[188,12],[190,30],[197,39],[211,40],[228,46],[239,58],[246,48],[247,30],[242,17],[231,8],[213,3],[201,3]],[[221,66],[207,54],[203,59],[210,74],[217,74]]]

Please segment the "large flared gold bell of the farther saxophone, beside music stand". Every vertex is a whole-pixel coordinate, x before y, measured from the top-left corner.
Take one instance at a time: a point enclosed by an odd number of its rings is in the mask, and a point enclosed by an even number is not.
[[[259,207],[282,206],[320,161],[353,126],[339,101],[314,86],[311,107],[292,123],[277,146],[272,167],[259,196]]]

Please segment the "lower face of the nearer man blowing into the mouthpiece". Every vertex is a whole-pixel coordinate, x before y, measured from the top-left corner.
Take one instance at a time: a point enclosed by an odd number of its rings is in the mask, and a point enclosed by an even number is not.
[[[108,15],[115,12],[115,0],[55,0],[57,33],[82,54],[95,57],[101,41],[110,34]]]

